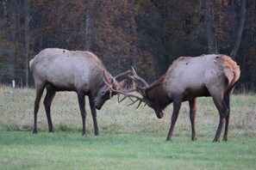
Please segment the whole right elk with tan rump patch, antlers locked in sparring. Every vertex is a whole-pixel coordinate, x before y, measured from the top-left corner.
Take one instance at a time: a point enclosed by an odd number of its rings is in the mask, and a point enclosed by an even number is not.
[[[133,74],[128,77],[142,84],[142,87],[137,86],[129,92],[137,91],[142,97],[113,88],[111,90],[124,94],[123,99],[135,98],[136,100],[133,100],[131,105],[137,101],[145,102],[147,106],[153,108],[158,118],[163,118],[165,107],[173,103],[167,141],[172,141],[174,126],[183,101],[189,101],[191,140],[197,140],[195,129],[197,97],[202,96],[212,97],[220,115],[220,122],[213,142],[220,141],[223,124],[225,124],[223,141],[228,141],[230,95],[240,77],[240,67],[231,58],[221,54],[202,55],[195,58],[180,57],[173,62],[164,76],[150,85],[136,74],[134,68],[132,68],[132,72]],[[137,107],[140,106],[140,103]]]

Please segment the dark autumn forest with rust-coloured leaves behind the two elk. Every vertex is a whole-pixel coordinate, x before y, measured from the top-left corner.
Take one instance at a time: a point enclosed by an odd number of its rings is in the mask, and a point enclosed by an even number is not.
[[[33,86],[28,61],[47,47],[94,52],[116,76],[153,82],[180,56],[226,54],[240,87],[256,85],[255,0],[0,0],[0,84]]]

